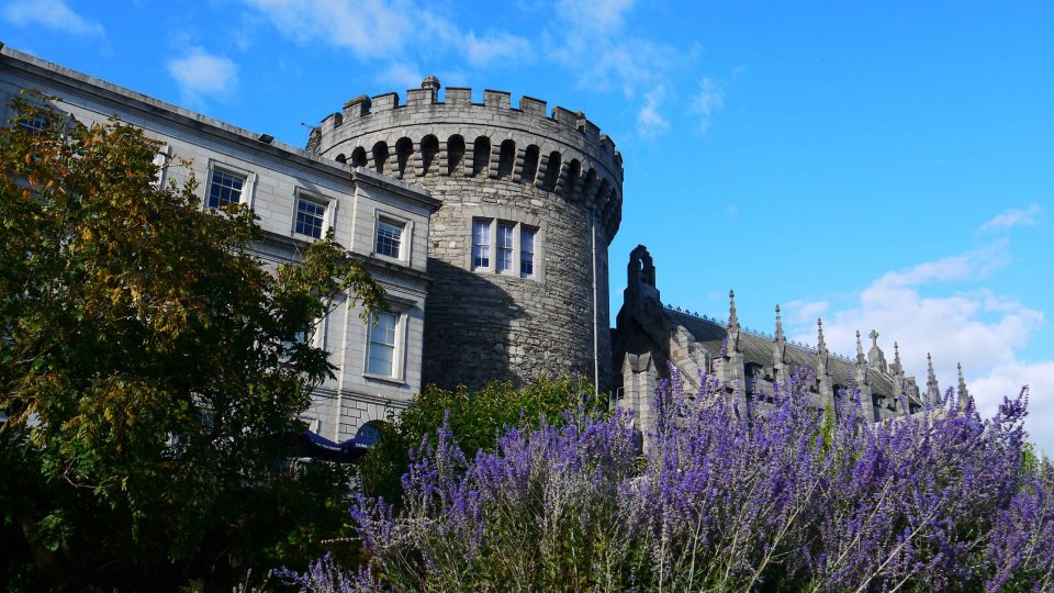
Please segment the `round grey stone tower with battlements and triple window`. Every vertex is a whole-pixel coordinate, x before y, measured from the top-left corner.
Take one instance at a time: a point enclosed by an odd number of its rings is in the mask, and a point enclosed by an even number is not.
[[[310,148],[427,188],[431,219],[424,381],[581,374],[610,385],[607,246],[618,231],[623,160],[581,112],[529,97],[447,88],[359,96]],[[375,214],[358,215],[375,217]]]

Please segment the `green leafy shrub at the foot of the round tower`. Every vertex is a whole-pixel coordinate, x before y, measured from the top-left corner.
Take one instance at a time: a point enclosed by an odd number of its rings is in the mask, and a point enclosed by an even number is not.
[[[444,422],[457,432],[462,450],[473,456],[493,449],[509,426],[536,428],[542,419],[559,425],[567,410],[583,403],[591,409],[606,407],[606,402],[594,402],[592,393],[588,381],[570,378],[539,378],[523,388],[495,381],[474,392],[463,385],[455,391],[427,385],[382,427],[379,445],[360,465],[363,490],[388,501],[401,500],[410,451],[426,435],[436,438]]]

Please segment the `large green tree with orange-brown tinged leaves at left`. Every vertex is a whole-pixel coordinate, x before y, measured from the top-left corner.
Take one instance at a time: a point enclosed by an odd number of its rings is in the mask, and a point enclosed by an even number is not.
[[[379,311],[383,290],[332,235],[269,273],[256,216],[203,211],[192,179],[158,187],[142,131],[16,102],[23,124],[0,130],[0,579],[227,586],[317,553],[349,477],[288,461],[332,372],[303,336],[338,294]]]

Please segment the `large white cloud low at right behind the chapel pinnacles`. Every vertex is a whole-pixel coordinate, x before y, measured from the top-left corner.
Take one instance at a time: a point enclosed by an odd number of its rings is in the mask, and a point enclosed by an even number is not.
[[[923,262],[883,275],[853,295],[849,306],[823,316],[828,346],[837,353],[855,351],[855,332],[879,334],[886,359],[893,360],[893,343],[909,374],[926,383],[927,353],[941,389],[957,384],[956,363],[962,362],[967,388],[983,412],[995,411],[1003,395],[1016,395],[1032,385],[1028,428],[1033,440],[1054,454],[1054,360],[1023,362],[1018,353],[1045,324],[1043,312],[989,289],[950,290],[948,282],[977,281],[1008,265],[1005,242]],[[827,302],[787,303],[785,311],[794,338],[816,343],[816,315]],[[870,340],[864,337],[864,350]]]

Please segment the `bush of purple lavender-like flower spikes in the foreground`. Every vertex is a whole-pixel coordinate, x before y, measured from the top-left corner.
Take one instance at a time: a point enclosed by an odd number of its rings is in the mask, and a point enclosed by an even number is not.
[[[332,590],[1047,591],[1054,468],[1024,441],[1027,392],[982,419],[942,406],[873,425],[859,396],[818,411],[795,377],[748,414],[674,377],[640,452],[632,418],[579,410],[466,459],[440,430],[403,506],[359,496],[368,566]]]

